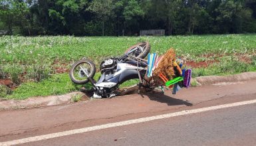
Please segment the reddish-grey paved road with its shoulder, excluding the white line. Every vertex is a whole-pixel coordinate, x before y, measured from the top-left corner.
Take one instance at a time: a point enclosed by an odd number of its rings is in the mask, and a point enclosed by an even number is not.
[[[0,111],[0,141],[256,99],[256,80],[45,108]],[[22,145],[256,145],[256,104],[111,127]],[[116,141],[115,141],[116,140]],[[1,145],[1,143],[0,143]]]

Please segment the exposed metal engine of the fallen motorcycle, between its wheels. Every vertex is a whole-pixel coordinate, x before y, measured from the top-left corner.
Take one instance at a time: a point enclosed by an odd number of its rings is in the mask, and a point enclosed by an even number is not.
[[[116,70],[116,60],[114,58],[106,59],[100,64],[100,71],[103,74],[113,74]]]

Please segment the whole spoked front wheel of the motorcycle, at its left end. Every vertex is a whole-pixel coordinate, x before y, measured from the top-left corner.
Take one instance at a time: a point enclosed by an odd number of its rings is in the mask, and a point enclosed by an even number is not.
[[[88,77],[93,78],[96,72],[95,64],[87,59],[75,62],[69,72],[70,79],[75,84],[86,84]]]

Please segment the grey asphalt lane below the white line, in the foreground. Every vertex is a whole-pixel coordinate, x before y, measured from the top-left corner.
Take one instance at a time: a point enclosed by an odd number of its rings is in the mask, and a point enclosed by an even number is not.
[[[114,127],[29,145],[256,145],[256,104]],[[27,143],[25,145],[28,145]]]

